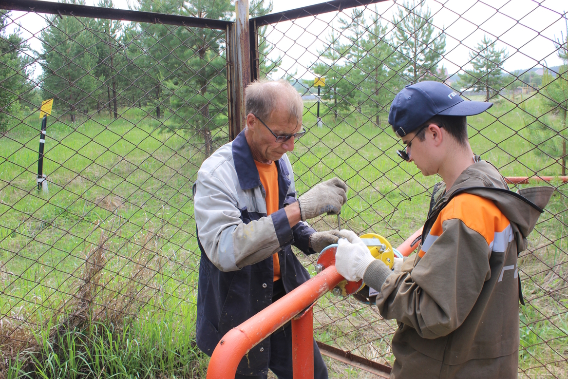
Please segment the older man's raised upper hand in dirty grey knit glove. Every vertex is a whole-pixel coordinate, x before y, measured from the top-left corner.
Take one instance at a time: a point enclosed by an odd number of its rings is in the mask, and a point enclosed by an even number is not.
[[[302,221],[320,214],[339,214],[347,202],[347,185],[339,178],[332,178],[314,186],[298,198]]]

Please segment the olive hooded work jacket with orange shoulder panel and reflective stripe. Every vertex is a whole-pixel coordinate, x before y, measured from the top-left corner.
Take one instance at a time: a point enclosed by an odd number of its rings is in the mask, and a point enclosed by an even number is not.
[[[391,378],[517,377],[517,255],[553,191],[513,193],[486,161],[439,188],[419,252],[377,285],[379,312],[399,323]]]

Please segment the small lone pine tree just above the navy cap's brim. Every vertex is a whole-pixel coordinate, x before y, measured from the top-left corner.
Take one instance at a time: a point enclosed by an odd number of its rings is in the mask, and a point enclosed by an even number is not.
[[[494,41],[483,36],[477,49],[470,52],[469,56],[473,70],[465,70],[465,73],[460,74],[458,83],[462,88],[485,92],[485,100],[489,101],[507,85],[508,79],[503,76],[501,68],[509,56],[507,50],[498,49]]]

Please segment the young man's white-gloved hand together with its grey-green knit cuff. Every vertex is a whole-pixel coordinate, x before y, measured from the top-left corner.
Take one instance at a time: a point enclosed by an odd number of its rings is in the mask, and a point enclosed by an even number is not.
[[[337,242],[335,253],[337,272],[346,280],[359,281],[364,278],[365,283],[372,288],[381,288],[386,278],[392,274],[389,266],[382,260],[375,259],[369,248],[354,232],[342,230],[340,233],[343,238]]]

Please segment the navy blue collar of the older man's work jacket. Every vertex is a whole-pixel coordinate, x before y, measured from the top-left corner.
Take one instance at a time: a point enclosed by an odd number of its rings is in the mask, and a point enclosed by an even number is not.
[[[260,176],[258,176],[258,169],[256,168],[256,164],[254,164],[252,152],[250,152],[244,130],[233,140],[231,149],[241,189],[247,190],[260,186]],[[286,168],[283,157],[275,163],[278,170],[278,177],[288,176],[290,174]]]

